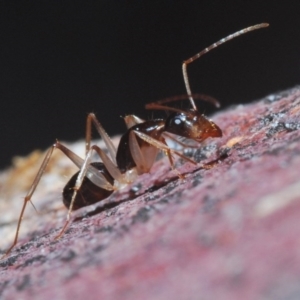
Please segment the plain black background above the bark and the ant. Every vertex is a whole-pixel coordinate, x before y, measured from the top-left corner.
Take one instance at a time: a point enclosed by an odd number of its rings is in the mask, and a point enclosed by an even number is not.
[[[294,3],[294,4],[292,4]],[[181,63],[244,27],[189,67],[192,90],[223,107],[300,78],[297,1],[3,1],[0,4],[0,168],[56,138],[84,137],[88,112],[110,135],[121,115],[185,93]],[[199,107],[201,104],[199,103]]]

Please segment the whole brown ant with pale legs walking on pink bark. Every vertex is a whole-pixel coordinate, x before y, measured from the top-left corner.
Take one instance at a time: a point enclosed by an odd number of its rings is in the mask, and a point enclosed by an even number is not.
[[[194,98],[201,98],[213,103],[215,106],[219,106],[219,104],[212,97],[192,94],[187,75],[187,65],[235,37],[267,26],[269,24],[261,23],[239,30],[185,60],[182,64],[182,72],[187,95],[168,98],[146,105],[146,109],[170,111],[171,113],[166,119],[145,121],[135,115],[126,116],[124,120],[127,125],[127,131],[122,135],[117,149],[93,113],[90,113],[87,117],[86,155],[84,159],[80,158],[59,141],[56,141],[48,150],[24,198],[14,241],[3,257],[7,256],[18,242],[21,222],[27,203],[31,202],[31,198],[51,159],[54,149],[61,150],[80,169],[80,171],[71,177],[63,189],[63,203],[68,208],[68,214],[65,225],[56,236],[56,239],[60,238],[66,230],[73,210],[104,200],[114,191],[134,182],[137,176],[148,173],[159,151],[163,151],[167,155],[171,168],[175,171],[172,154],[197,165],[192,159],[170,148],[165,141],[165,137],[167,137],[186,146],[184,143],[179,142],[173,135],[191,139],[197,143],[204,141],[208,137],[222,136],[222,130],[213,121],[207,119],[198,111]],[[191,108],[187,111],[165,105],[167,102],[186,98],[189,99],[191,104]],[[97,145],[91,145],[92,124],[103,139],[109,155]],[[102,162],[91,162],[94,152],[101,158]],[[177,175],[180,178],[184,178],[179,172],[177,172]]]

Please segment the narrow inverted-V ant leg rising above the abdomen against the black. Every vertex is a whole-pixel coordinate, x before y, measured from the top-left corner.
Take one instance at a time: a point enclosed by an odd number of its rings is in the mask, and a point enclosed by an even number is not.
[[[115,164],[117,164],[117,162],[116,162],[117,150],[116,150],[113,142],[111,141],[109,135],[106,133],[103,126],[101,125],[101,123],[99,122],[99,120],[97,119],[95,114],[93,114],[93,113],[88,114],[87,120],[86,120],[86,135],[85,135],[85,153],[86,153],[86,155],[91,148],[92,123],[94,124],[96,130],[98,131],[99,135],[103,139],[103,141],[107,147],[107,150],[110,154],[111,159],[113,160],[113,162]]]

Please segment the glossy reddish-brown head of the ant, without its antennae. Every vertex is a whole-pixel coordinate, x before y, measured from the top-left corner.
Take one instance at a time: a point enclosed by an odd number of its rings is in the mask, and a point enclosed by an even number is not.
[[[196,110],[170,114],[165,122],[165,131],[197,142],[222,136],[222,130]]]

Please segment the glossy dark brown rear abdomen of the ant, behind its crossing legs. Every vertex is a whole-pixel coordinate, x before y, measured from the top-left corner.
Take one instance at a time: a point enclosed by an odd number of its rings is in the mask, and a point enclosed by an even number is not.
[[[108,173],[105,166],[101,162],[94,162],[91,163],[93,167],[99,170],[99,172],[105,176],[107,181],[113,185],[114,179],[112,176]],[[78,177],[79,171],[75,173],[71,179],[68,181],[66,186],[63,189],[63,203],[64,205],[69,208],[72,200],[72,196],[74,194],[74,186],[76,179]],[[84,177],[83,182],[77,191],[77,195],[74,200],[74,206],[73,210],[82,208],[84,206],[88,206],[94,203],[97,203],[103,199],[106,199],[108,196],[110,196],[113,193],[113,191],[109,191],[103,188],[100,188],[99,186],[95,185],[93,182],[91,182],[87,177]]]

